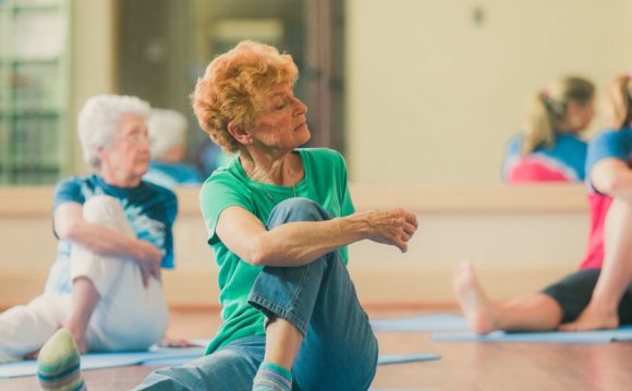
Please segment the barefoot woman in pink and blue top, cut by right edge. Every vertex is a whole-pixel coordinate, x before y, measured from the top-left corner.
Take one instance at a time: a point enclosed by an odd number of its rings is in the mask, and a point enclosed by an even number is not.
[[[493,303],[472,266],[462,264],[454,294],[470,328],[549,331],[632,325],[632,82],[617,77],[607,90],[611,129],[588,144],[586,172],[592,228],[580,270],[540,293]]]

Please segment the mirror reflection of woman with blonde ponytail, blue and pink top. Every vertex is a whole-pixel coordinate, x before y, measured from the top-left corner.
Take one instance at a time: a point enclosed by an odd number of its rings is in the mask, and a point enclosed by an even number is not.
[[[536,93],[526,112],[526,134],[513,137],[506,150],[506,183],[582,182],[586,143],[579,136],[593,119],[594,85],[564,77]]]

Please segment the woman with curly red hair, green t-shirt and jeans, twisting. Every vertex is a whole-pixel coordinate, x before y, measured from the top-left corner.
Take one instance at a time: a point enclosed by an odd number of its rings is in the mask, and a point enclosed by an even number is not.
[[[368,239],[405,252],[417,221],[402,209],[355,212],[342,156],[299,148],[311,134],[297,73],[289,54],[243,41],[197,82],[200,126],[236,155],[199,196],[223,323],[206,356],[143,389],[366,390],[375,376],[347,246]]]

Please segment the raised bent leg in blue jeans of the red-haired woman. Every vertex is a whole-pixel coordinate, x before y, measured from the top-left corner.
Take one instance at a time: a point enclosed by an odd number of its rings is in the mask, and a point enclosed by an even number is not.
[[[279,204],[268,229],[292,221],[321,221],[329,215],[305,198]],[[288,346],[282,333],[267,338],[266,359],[275,349],[297,350],[292,372],[294,387],[304,390],[367,389],[375,376],[377,341],[362,309],[340,252],[302,267],[265,267],[248,297],[251,305],[276,322],[292,325]],[[272,338],[274,337],[274,338]],[[290,335],[291,337],[291,335]],[[283,354],[283,352],[276,352]]]

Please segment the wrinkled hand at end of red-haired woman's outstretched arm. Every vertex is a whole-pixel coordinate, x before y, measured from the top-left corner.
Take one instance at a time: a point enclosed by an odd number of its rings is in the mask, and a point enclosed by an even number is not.
[[[370,227],[368,239],[397,246],[402,253],[409,249],[408,242],[418,225],[416,216],[403,209],[368,211],[366,222]]]

